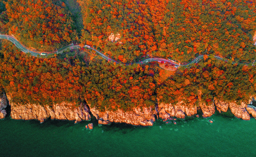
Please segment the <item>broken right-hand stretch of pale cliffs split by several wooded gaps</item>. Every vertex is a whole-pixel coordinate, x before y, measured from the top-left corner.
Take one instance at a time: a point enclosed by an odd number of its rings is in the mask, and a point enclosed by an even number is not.
[[[254,98],[252,97],[252,99]],[[215,107],[220,113],[226,112],[229,107],[234,116],[244,120],[250,120],[250,114],[252,117],[256,117],[256,107],[243,102],[241,102],[241,105],[238,105],[237,102],[221,101],[214,98],[214,103],[210,105],[206,105],[204,102],[199,102],[198,105],[202,110],[203,117],[212,116],[215,113]],[[197,107],[195,105],[187,105],[183,101],[175,105],[158,102],[156,111],[158,111],[159,118],[162,119],[170,119],[171,117],[184,118],[185,116],[195,115],[197,113]]]

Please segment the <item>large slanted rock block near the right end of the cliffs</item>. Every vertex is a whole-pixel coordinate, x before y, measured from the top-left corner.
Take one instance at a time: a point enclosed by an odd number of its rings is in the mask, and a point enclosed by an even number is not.
[[[235,102],[229,103],[229,108],[236,117],[250,120],[250,115],[246,110],[246,106],[247,105],[244,102],[242,102],[241,105],[237,105]]]

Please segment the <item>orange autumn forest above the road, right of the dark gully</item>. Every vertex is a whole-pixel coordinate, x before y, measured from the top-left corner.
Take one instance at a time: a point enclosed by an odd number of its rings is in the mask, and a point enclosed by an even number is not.
[[[147,55],[188,62],[201,54],[255,60],[256,8],[252,1],[79,2],[84,20],[81,42],[98,46],[122,62]]]

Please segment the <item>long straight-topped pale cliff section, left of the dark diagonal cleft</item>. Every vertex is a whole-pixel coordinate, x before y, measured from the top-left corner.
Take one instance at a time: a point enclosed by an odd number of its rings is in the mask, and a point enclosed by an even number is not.
[[[60,120],[90,120],[89,109],[86,105],[81,104],[76,107],[69,103],[61,103],[50,106],[41,106],[35,104],[26,105],[11,105],[12,119],[37,119],[41,123],[47,119],[60,119]]]

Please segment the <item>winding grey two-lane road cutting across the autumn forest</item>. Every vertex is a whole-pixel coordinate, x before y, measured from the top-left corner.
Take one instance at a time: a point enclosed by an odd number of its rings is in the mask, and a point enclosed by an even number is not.
[[[63,53],[66,50],[72,50],[72,49],[81,48],[81,46],[74,45],[72,43],[72,44],[64,46],[63,48],[60,48],[59,50],[56,50],[56,51],[53,51],[53,52],[39,52],[39,51],[36,51],[36,50],[31,50],[30,48],[27,48],[26,46],[21,44],[14,36],[0,34],[0,39],[9,40],[13,44],[15,44],[15,46],[17,48],[19,48],[22,52],[30,53],[32,56],[35,56],[35,57],[38,57],[38,55],[40,57],[42,57],[42,56],[49,56],[49,55],[52,55],[52,54],[61,54],[61,53]],[[99,56],[101,56],[102,58],[104,58],[105,60],[108,60],[110,62],[115,62],[116,64],[124,64],[124,63],[117,62],[116,60],[113,60],[112,58],[109,58],[108,56],[102,54],[101,52],[99,52],[98,50],[92,48],[91,46],[85,45],[82,48],[88,48],[88,49],[94,50],[94,51],[96,51],[98,53]],[[207,56],[209,56],[209,55],[207,55]],[[131,64],[124,64],[124,65],[129,66],[129,65],[132,65],[132,64],[146,64],[148,62],[164,62],[164,63],[172,64],[175,68],[178,68],[178,67],[189,68],[193,64],[198,63],[203,58],[204,58],[204,55],[198,56],[197,58],[195,58],[194,60],[192,60],[191,62],[189,62],[188,64],[185,64],[185,65],[180,65],[180,64],[177,64],[176,62],[174,62],[173,60],[166,60],[164,58],[148,58],[148,59],[142,60],[140,62],[131,63]],[[222,60],[224,62],[229,62],[228,60],[226,60],[224,58],[220,58],[218,56],[214,56],[214,58],[216,58],[217,60]],[[231,63],[232,64],[244,64],[246,66],[254,66],[254,62],[252,62],[252,63],[231,62]]]

